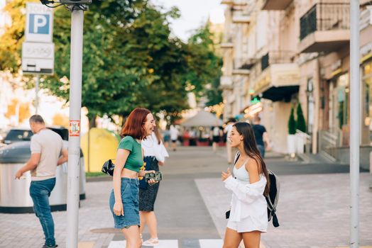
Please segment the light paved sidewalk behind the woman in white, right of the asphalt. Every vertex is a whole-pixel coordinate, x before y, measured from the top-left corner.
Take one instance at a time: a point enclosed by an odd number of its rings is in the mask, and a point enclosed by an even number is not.
[[[266,248],[347,247],[349,244],[349,174],[280,176],[278,220],[262,235]],[[359,195],[360,244],[372,247],[372,175],[361,174]],[[195,179],[221,237],[231,193],[221,179]]]

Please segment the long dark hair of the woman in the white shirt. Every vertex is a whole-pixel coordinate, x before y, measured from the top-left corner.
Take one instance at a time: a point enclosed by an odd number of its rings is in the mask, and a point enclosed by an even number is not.
[[[261,157],[260,151],[258,151],[257,145],[256,145],[256,138],[254,137],[253,128],[249,123],[235,123],[233,127],[236,128],[236,131],[238,131],[239,135],[243,135],[243,142],[244,142],[244,152],[248,155],[248,157],[253,158],[256,160],[257,164],[261,164],[261,171],[266,176],[266,187],[263,194],[265,196],[268,196],[268,192],[270,189],[270,179],[268,176],[268,169],[266,168],[266,164],[263,161],[263,158]]]

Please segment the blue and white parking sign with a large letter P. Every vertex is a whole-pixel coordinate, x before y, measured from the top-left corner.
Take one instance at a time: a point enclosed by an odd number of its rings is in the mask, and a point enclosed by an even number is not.
[[[43,4],[26,5],[26,41],[51,43],[53,40],[53,9]]]

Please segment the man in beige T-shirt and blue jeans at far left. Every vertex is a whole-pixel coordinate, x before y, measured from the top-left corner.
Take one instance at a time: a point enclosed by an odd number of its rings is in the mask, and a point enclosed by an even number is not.
[[[31,157],[16,172],[16,179],[20,179],[26,171],[31,171],[30,196],[33,201],[33,210],[43,227],[45,235],[43,248],[51,248],[56,247],[56,244],[49,196],[55,186],[57,166],[67,162],[68,152],[63,147],[60,135],[45,128],[44,120],[40,115],[31,116],[30,127],[33,132]]]

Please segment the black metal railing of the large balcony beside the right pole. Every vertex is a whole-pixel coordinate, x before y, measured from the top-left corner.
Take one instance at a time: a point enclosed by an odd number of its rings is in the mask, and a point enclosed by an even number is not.
[[[348,3],[319,3],[300,18],[300,40],[315,31],[349,30]]]

